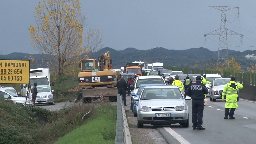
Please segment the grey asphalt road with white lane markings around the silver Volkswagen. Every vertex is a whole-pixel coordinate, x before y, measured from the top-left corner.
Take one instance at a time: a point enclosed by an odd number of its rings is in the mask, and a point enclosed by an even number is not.
[[[128,96],[128,98],[130,97]],[[206,106],[204,106],[203,114],[203,127],[205,127],[206,130],[192,129],[192,100],[187,100],[186,102],[189,106],[190,118],[190,126],[188,128],[183,128],[179,124],[168,126],[145,125],[145,127],[140,130],[136,127],[136,117],[133,117],[131,110],[126,112],[131,125],[131,128],[129,128],[132,139],[136,140],[139,134],[148,134],[147,139],[152,141],[152,143],[159,144],[256,143],[256,102],[239,99],[238,108],[235,110],[235,119],[223,119],[225,100],[217,99],[216,102],[212,102],[209,100],[209,97],[207,97],[205,99]],[[128,108],[130,107],[128,106]],[[126,109],[128,110],[128,108]],[[136,135],[133,135],[133,131],[136,132]],[[151,137],[152,135],[150,135],[152,132],[157,134],[153,135],[153,137],[156,137],[155,140]],[[162,139],[165,141],[160,141]],[[136,143],[143,143],[140,141],[136,141]]]

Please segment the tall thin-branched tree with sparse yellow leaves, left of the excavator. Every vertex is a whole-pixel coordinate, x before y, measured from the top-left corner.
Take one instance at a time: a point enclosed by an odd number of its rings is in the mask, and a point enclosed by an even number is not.
[[[31,43],[41,54],[52,55],[58,74],[77,63],[82,52],[83,26],[86,15],[81,14],[79,0],[42,0],[35,8],[36,26],[29,28]]]

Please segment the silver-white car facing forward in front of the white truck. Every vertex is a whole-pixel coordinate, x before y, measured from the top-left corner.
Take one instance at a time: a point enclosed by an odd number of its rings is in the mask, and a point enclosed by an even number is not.
[[[53,93],[54,90],[50,91],[47,85],[37,85],[36,86],[37,95],[35,99],[35,104],[45,104],[49,105],[54,104]],[[32,95],[30,94],[30,98],[32,99]]]

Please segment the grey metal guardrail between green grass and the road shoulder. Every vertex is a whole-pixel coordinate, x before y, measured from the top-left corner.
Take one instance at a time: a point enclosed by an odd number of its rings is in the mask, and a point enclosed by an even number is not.
[[[129,126],[122,103],[122,97],[117,95],[117,125],[115,144],[132,144]]]

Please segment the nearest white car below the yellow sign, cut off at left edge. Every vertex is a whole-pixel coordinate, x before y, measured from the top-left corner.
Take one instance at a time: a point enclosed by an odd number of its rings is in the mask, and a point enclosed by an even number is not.
[[[21,97],[21,96],[17,95],[16,93],[13,93],[11,90],[8,90],[8,89],[0,88],[0,98],[12,101],[15,104],[21,104],[23,106],[25,106],[25,103],[26,103],[26,105],[33,106],[32,99],[27,98],[27,101],[26,101],[25,97]]]

